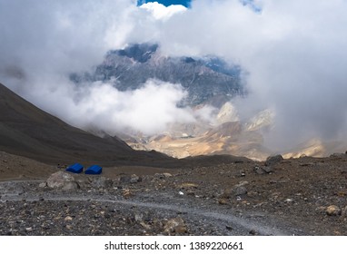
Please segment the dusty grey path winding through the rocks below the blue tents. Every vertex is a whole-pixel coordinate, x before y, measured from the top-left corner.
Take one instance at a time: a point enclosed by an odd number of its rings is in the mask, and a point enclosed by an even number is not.
[[[263,215],[236,216],[231,213],[231,210],[215,210],[215,207],[210,209],[201,208],[199,204],[194,204],[189,200],[175,200],[174,197],[169,197],[170,193],[161,193],[160,196],[155,197],[156,200],[153,202],[147,200],[145,195],[137,196],[132,200],[125,200],[122,196],[95,194],[88,191],[74,194],[52,191],[38,192],[28,188],[28,186],[37,186],[38,184],[39,181],[0,182],[2,193],[0,201],[3,203],[16,203],[17,207],[20,207],[20,203],[39,202],[40,200],[45,203],[53,202],[57,204],[69,202],[71,206],[79,202],[97,203],[108,207],[113,206],[116,210],[124,210],[125,213],[130,208],[151,210],[155,213],[154,216],[158,218],[167,217],[169,214],[179,214],[188,225],[192,224],[196,227],[196,225],[205,223],[201,226],[206,227],[207,224],[211,224],[217,232],[231,235],[248,235],[250,232],[256,232],[259,235],[291,235],[295,233],[292,230],[284,229],[284,226],[276,225],[274,221],[266,219],[266,216]],[[177,203],[179,205],[176,205]],[[47,210],[49,210],[49,207],[47,207]]]

